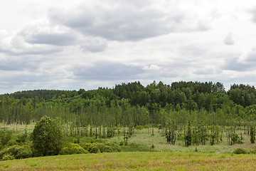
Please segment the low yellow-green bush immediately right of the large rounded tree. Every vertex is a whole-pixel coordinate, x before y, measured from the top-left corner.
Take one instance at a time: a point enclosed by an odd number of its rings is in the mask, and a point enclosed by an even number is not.
[[[60,150],[60,155],[74,155],[74,154],[87,154],[87,150],[83,149],[80,145],[70,143]]]

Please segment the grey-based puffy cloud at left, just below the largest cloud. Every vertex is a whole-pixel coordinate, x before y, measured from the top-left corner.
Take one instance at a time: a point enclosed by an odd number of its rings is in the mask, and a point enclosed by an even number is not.
[[[105,38],[85,37],[77,31],[50,24],[46,26],[26,26],[19,31],[18,36],[32,45],[79,46],[83,51],[90,52],[105,51],[107,48]]]

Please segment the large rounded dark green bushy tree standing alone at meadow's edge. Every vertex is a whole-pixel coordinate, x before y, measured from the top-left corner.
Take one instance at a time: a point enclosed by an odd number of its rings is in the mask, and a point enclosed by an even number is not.
[[[41,118],[31,133],[31,140],[34,156],[58,155],[63,146],[60,119]]]

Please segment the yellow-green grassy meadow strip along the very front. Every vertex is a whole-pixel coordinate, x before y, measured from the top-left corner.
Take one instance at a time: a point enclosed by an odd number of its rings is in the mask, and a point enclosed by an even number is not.
[[[0,170],[256,170],[255,155],[118,152],[0,162]]]

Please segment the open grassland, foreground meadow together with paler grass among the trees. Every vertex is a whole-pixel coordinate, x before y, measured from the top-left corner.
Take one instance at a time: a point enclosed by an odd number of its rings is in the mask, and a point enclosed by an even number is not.
[[[33,125],[28,125],[31,132]],[[3,128],[3,125],[1,125]],[[21,131],[26,125],[9,125],[9,129]],[[242,133],[242,128],[237,133]],[[169,145],[161,137],[161,130],[135,130],[128,145],[122,145],[122,152],[58,155],[34,157],[23,160],[1,161],[0,170],[256,170],[256,155],[234,155],[238,147],[255,150],[250,137],[243,135],[244,143],[228,145],[224,136],[223,142],[217,145],[192,145],[186,147],[182,141]],[[100,141],[84,138],[81,141]],[[108,141],[123,141],[122,133]]]

